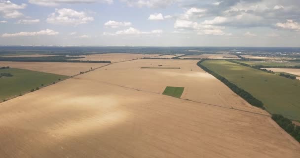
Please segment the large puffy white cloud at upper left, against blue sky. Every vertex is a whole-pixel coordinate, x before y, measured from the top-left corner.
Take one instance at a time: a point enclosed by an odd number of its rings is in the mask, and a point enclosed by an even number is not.
[[[51,13],[47,18],[48,23],[62,25],[86,24],[93,20],[93,17],[87,16],[83,11],[78,12],[68,8],[55,9],[55,13]]]

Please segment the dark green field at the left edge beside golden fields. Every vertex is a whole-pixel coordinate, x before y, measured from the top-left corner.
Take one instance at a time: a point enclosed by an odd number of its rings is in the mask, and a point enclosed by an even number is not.
[[[47,85],[58,79],[68,78],[62,75],[14,68],[2,69],[0,73],[10,73],[13,75],[13,77],[0,78],[0,101],[30,91],[41,84]]]

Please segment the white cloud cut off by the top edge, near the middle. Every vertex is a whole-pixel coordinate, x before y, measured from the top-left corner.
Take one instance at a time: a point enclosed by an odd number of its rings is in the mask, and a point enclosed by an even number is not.
[[[129,6],[150,7],[150,8],[164,8],[171,5],[178,0],[121,0],[126,2]]]

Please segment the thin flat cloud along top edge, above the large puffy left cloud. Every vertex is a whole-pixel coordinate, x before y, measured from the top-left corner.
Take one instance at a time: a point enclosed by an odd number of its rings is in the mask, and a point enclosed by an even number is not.
[[[75,3],[95,3],[104,2],[112,4],[113,0],[29,0],[32,4],[42,5],[42,6],[57,6],[59,4],[75,4]]]

